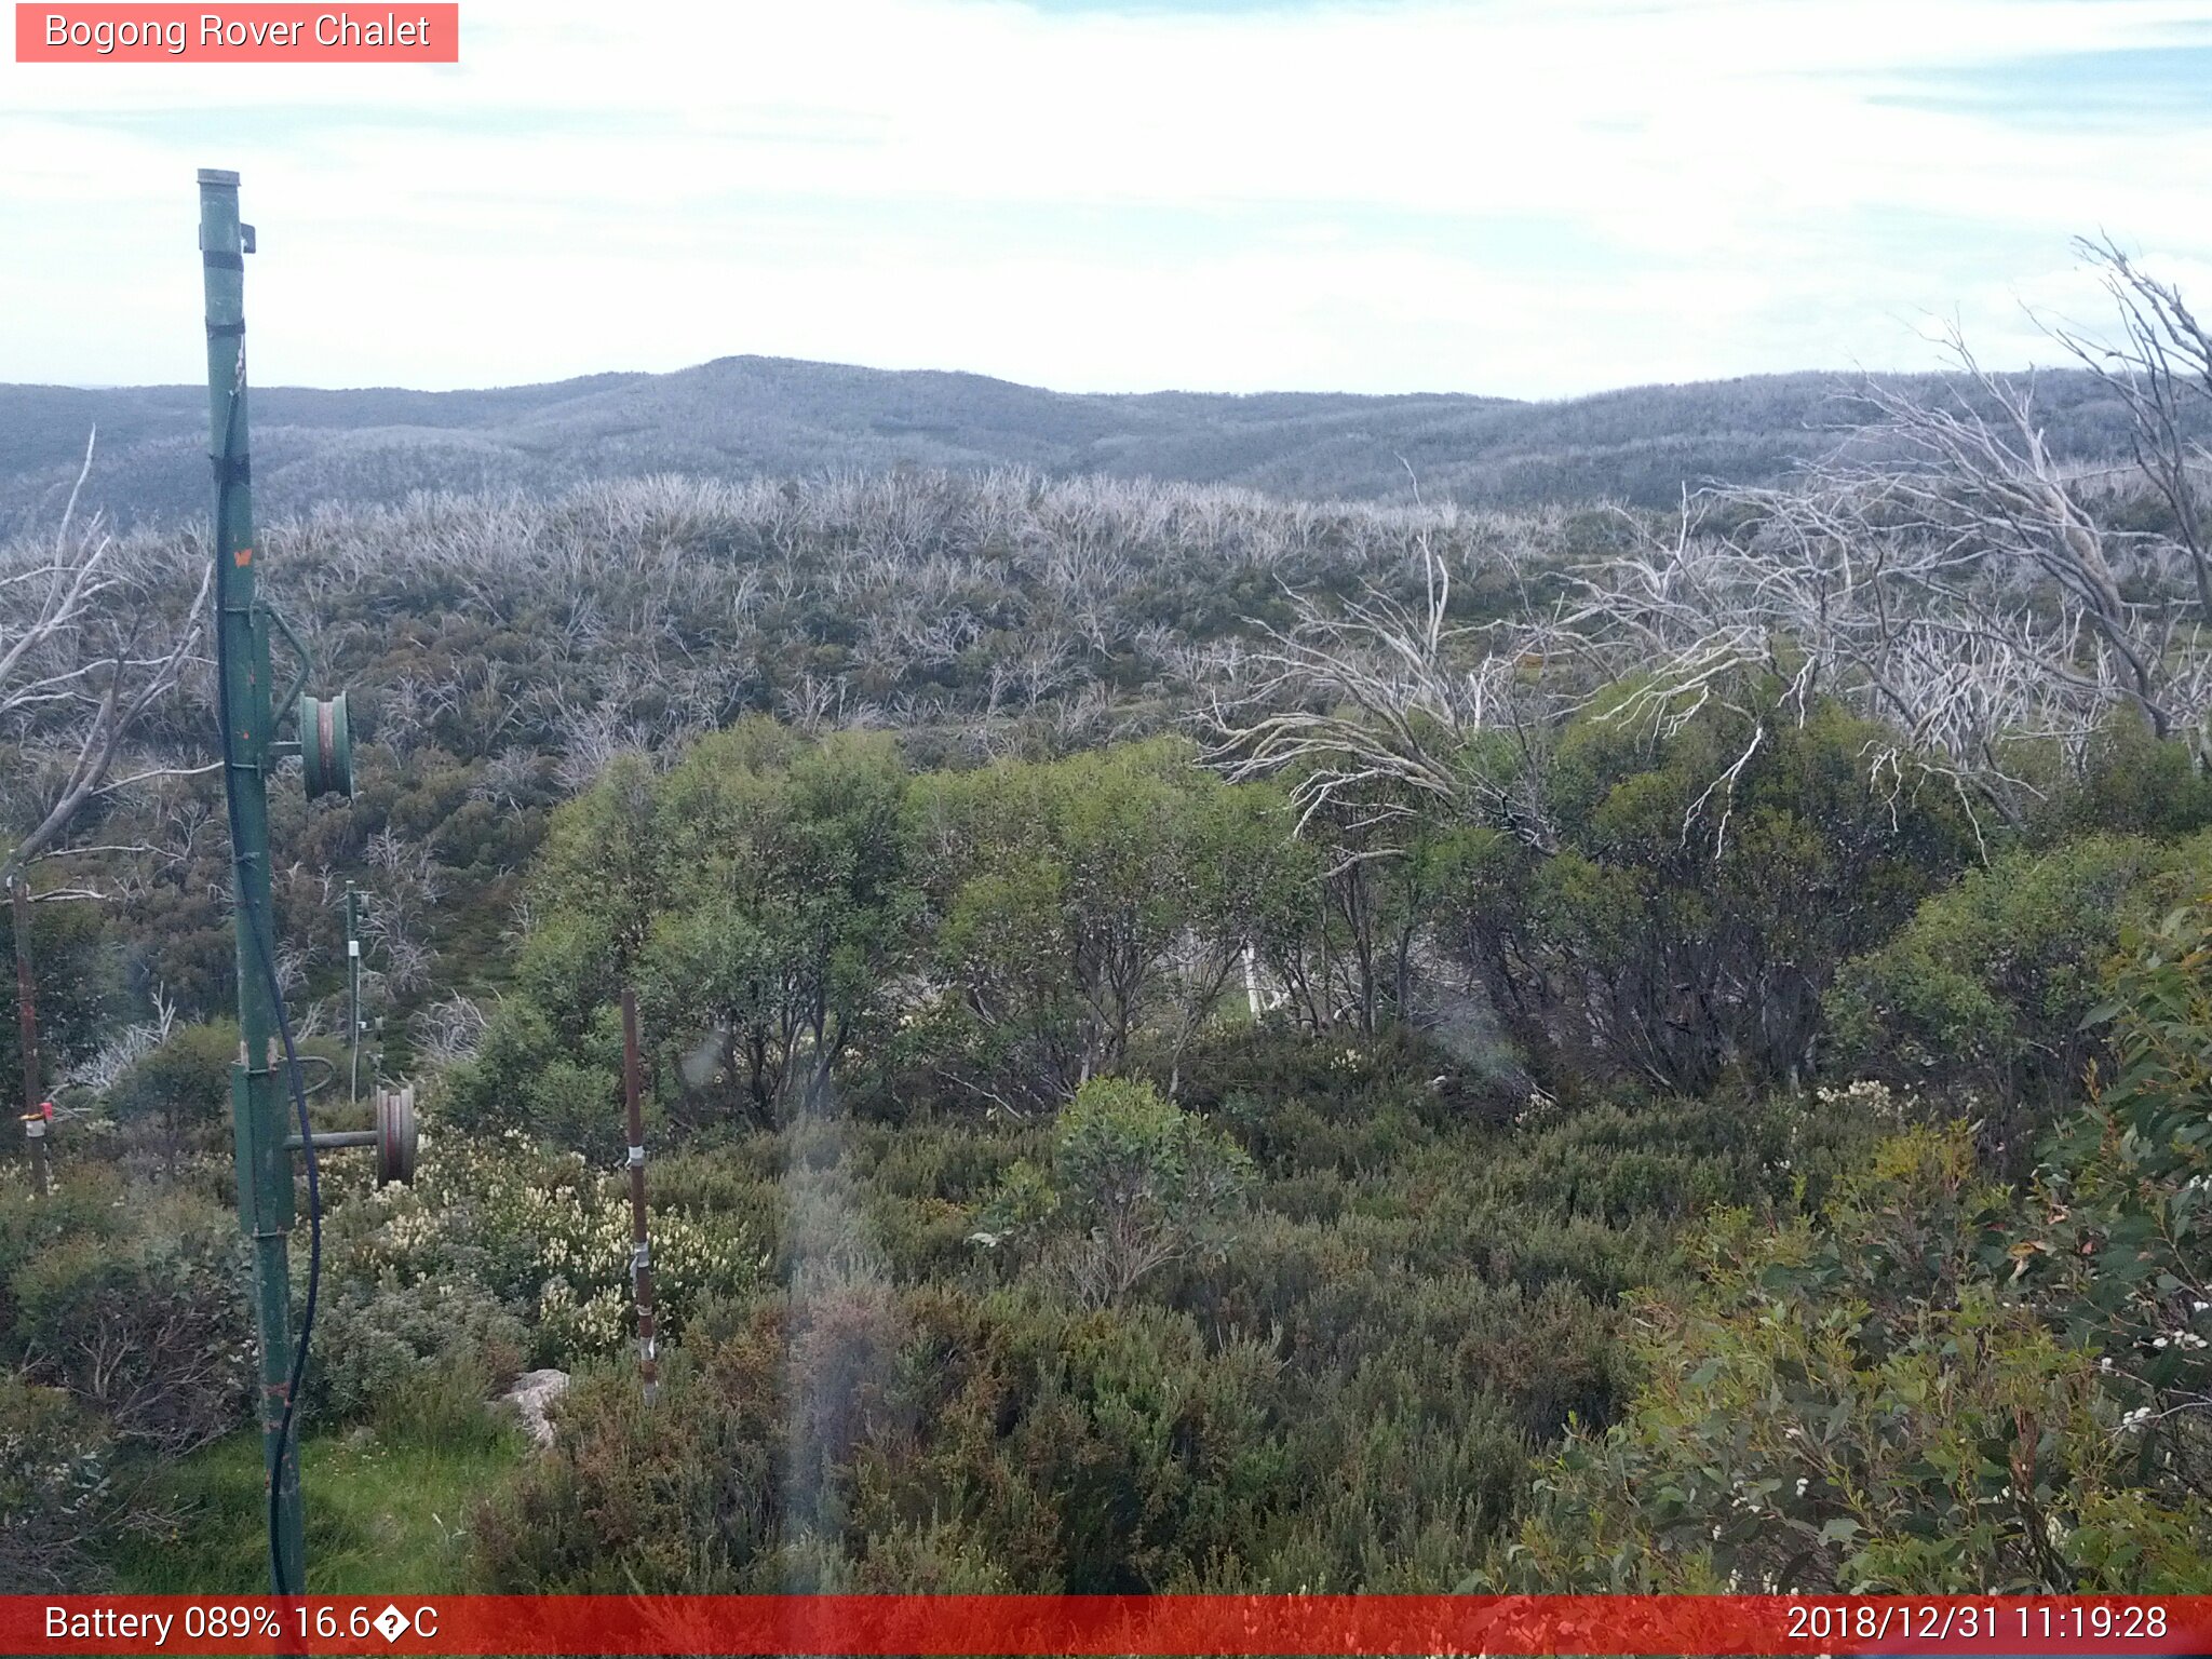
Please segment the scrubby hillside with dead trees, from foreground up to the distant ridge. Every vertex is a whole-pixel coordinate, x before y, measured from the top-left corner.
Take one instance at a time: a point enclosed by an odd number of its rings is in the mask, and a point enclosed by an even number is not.
[[[1666,509],[1409,453],[272,511],[358,734],[272,794],[279,978],[336,1075],[358,883],[425,1099],[411,1188],[325,1168],[312,1588],[2212,1590],[2212,347],[2110,274],[2055,400],[2121,467],[1969,365]],[[500,422],[615,453],[633,385]],[[1542,465],[1635,495],[1604,407]],[[0,564],[62,1106],[0,1588],[246,1590],[206,560],[77,507]]]

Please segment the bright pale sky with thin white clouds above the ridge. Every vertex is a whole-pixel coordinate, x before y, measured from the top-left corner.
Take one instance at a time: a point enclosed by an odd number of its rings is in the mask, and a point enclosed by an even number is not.
[[[367,11],[367,7],[358,7]],[[383,15],[376,9],[374,15]],[[2212,305],[2212,0],[462,0],[460,62],[0,62],[0,380],[730,354],[1562,398]]]

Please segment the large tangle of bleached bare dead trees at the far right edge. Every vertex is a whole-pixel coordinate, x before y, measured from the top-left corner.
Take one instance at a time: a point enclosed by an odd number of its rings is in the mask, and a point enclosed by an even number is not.
[[[2163,385],[2143,316],[2128,338]],[[1986,372],[1955,334],[1951,349],[1947,398],[1869,383],[1836,456],[1781,489],[1686,495],[1670,538],[1579,573],[1564,622],[1624,686],[1613,717],[1672,730],[1756,675],[1798,719],[1816,695],[1878,717],[1898,739],[1876,770],[1940,774],[2008,821],[2035,796],[2022,757],[2079,759],[2112,710],[2203,750],[2199,462],[2172,387],[2130,405],[2139,480],[2179,502],[2177,529],[2146,531],[2055,460],[2033,378]]]

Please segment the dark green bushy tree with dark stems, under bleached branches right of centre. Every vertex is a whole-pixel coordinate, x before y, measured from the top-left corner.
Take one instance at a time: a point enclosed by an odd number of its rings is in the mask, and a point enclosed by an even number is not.
[[[1829,703],[1661,734],[1595,710],[1551,776],[1562,847],[1478,849],[1447,940],[1555,1077],[1809,1079],[1836,971],[1971,852],[1955,799],[1874,774],[1876,737]]]

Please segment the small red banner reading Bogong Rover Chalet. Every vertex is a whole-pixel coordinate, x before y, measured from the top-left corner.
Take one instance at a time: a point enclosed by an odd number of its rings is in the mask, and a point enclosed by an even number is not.
[[[458,64],[460,7],[15,4],[18,64]]]

